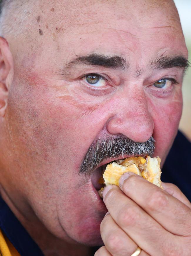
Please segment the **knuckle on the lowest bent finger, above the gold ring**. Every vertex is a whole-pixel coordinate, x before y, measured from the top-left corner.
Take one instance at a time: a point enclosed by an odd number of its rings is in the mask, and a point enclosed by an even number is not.
[[[116,254],[123,249],[123,242],[118,232],[109,234],[105,245],[112,254]]]

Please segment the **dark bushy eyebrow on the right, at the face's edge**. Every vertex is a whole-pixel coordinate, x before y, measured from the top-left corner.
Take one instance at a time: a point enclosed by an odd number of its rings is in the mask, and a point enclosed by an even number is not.
[[[159,56],[151,61],[151,69],[170,69],[170,68],[184,68],[187,69],[190,62],[183,56]]]

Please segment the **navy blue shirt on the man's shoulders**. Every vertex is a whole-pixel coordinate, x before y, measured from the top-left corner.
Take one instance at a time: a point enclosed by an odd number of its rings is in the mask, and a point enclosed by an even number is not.
[[[161,180],[177,185],[191,201],[191,143],[178,132],[162,169]],[[21,256],[43,256],[38,245],[0,198],[0,228]],[[98,250],[94,247],[92,255]]]

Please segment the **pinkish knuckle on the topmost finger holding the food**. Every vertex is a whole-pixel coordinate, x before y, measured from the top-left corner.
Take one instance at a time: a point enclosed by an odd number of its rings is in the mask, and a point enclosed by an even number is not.
[[[147,202],[150,211],[158,211],[165,208],[168,204],[168,195],[163,191],[156,190]]]

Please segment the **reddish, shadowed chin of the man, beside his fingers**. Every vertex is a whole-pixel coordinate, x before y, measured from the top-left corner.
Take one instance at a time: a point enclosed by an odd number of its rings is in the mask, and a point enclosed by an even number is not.
[[[82,198],[83,197],[81,197],[81,200]],[[69,243],[84,244],[86,246],[100,246],[103,245],[100,235],[100,223],[103,220],[107,209],[105,210],[106,207],[104,207],[102,211],[97,211],[95,209],[97,201],[95,200],[92,203],[91,201],[88,201],[88,198],[86,199],[89,204],[86,204],[86,206],[83,207],[83,211],[80,208],[75,209],[72,207],[70,215],[59,216],[59,223],[62,231],[65,233],[64,235],[62,233],[60,238],[67,240]],[[99,200],[102,199],[99,198]],[[82,205],[82,203],[79,202],[80,199],[77,201],[78,205]]]

